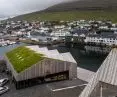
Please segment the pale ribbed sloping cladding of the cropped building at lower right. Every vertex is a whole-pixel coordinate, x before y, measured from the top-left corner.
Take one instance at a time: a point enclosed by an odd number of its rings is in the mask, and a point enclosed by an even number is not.
[[[117,86],[117,49],[113,49],[79,97],[90,97],[99,82]]]

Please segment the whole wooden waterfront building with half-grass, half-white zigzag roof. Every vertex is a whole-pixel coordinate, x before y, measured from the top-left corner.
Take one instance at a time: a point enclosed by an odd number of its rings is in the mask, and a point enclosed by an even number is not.
[[[77,63],[69,52],[22,46],[7,52],[5,58],[16,88],[77,77]]]

